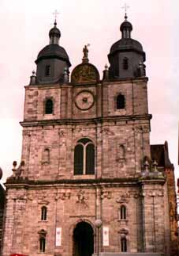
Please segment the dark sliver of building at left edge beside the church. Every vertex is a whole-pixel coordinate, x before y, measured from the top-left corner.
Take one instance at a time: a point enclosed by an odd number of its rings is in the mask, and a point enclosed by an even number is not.
[[[2,169],[0,168],[0,180],[2,178]],[[6,193],[5,189],[0,183],[0,255],[2,255],[2,237],[3,237],[3,227],[4,227],[4,208],[5,208]]]

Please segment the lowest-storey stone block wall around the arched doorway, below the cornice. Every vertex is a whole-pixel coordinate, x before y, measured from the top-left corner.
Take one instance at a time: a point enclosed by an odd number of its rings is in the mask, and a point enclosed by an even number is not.
[[[104,253],[121,250],[121,234],[124,232],[131,253],[166,251],[163,247],[165,212],[162,187],[158,188],[158,185],[152,186],[152,193],[156,190],[155,198],[150,194],[151,185],[143,189],[144,196],[137,183],[97,185],[87,181],[84,185],[25,185],[26,189],[18,186],[7,191],[4,256],[15,253],[37,256],[42,230],[47,234],[46,255],[52,256],[54,252],[62,256],[73,255],[73,231],[82,221],[93,229],[95,251],[97,218],[103,221],[103,227],[109,227],[109,246],[103,246],[101,228],[100,250]],[[121,205],[126,207],[126,220],[121,220]],[[41,220],[43,206],[47,207],[47,220]],[[61,246],[55,246],[56,227],[62,227]]]

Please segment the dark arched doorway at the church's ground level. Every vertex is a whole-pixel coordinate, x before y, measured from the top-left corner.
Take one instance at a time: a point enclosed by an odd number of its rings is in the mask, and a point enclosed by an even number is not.
[[[73,231],[73,256],[91,256],[94,252],[93,229],[82,221]]]

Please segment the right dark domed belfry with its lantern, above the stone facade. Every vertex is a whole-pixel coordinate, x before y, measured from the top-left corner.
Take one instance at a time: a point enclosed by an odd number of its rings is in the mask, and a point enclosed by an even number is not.
[[[121,23],[121,39],[110,48],[109,77],[113,80],[136,78],[145,75],[145,52],[142,44],[132,39],[132,24],[127,20]]]

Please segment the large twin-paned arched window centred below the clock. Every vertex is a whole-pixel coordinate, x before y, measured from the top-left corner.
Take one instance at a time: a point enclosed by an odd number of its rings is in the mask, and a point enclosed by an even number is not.
[[[74,150],[74,174],[95,174],[95,146],[91,139],[78,140]]]

